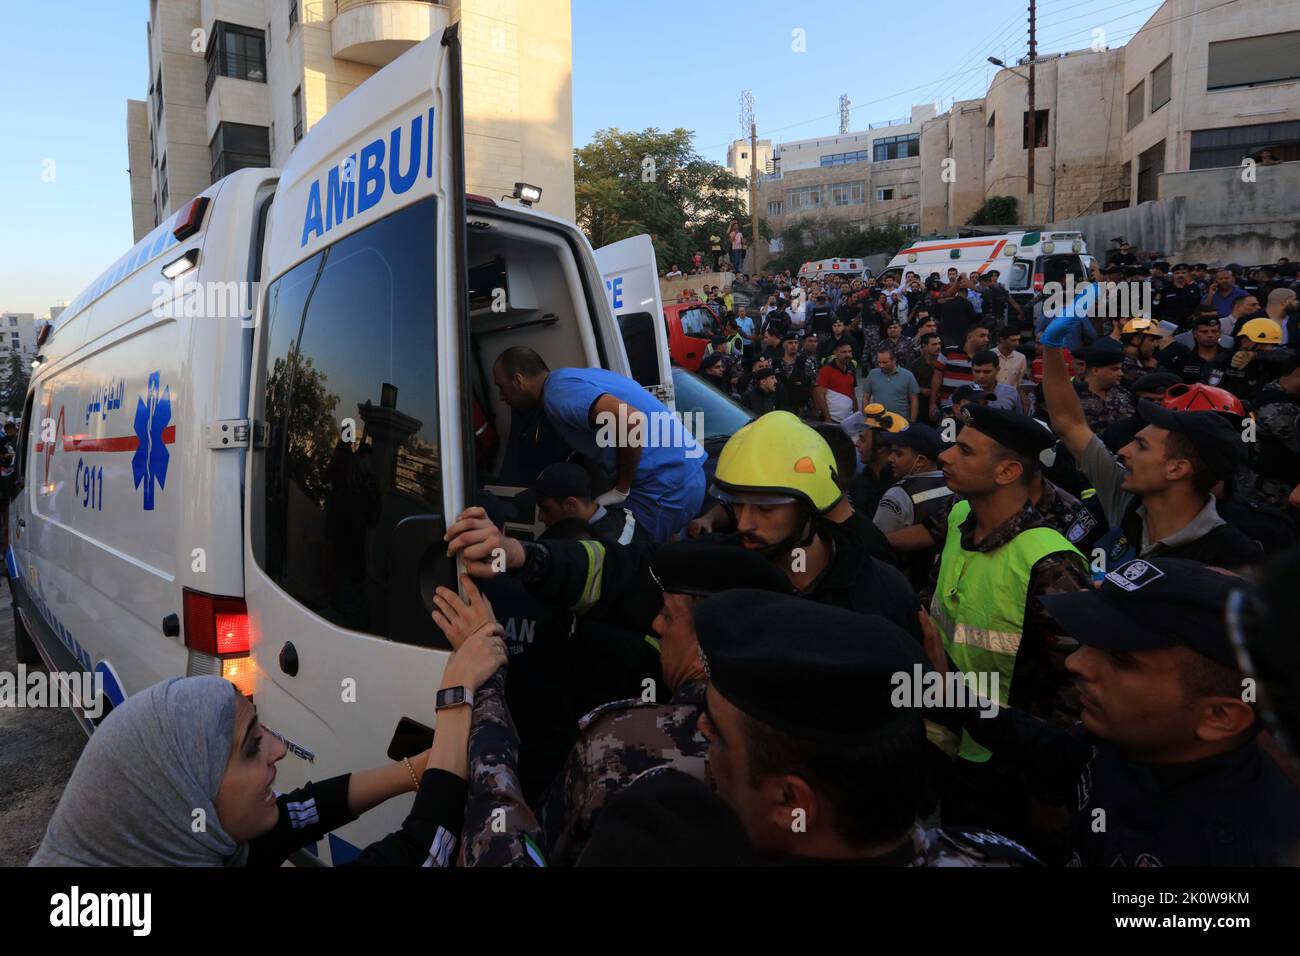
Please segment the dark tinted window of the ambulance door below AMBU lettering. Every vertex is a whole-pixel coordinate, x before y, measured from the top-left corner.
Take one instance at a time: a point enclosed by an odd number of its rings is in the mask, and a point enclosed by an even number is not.
[[[266,290],[263,531],[255,559],[337,627],[445,646],[389,567],[443,520],[436,200],[387,216]],[[365,321],[358,321],[358,316]],[[351,442],[338,423],[356,420]]]

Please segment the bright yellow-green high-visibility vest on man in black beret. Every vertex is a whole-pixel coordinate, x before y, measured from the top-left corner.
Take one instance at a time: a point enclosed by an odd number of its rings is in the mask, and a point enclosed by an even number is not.
[[[939,584],[930,617],[944,636],[944,650],[957,670],[971,675],[997,674],[997,702],[1006,706],[1011,693],[1015,654],[1024,631],[1024,604],[1030,571],[1049,554],[1065,553],[1087,572],[1083,554],[1058,531],[1030,528],[993,551],[962,548],[961,525],[970,502],[958,502],[948,515],[948,538],[939,566]],[[976,762],[992,754],[962,734],[958,756]]]

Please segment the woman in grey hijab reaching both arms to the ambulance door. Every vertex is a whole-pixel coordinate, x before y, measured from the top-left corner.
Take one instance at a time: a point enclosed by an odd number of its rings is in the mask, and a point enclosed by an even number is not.
[[[442,685],[477,691],[506,662],[502,628],[476,627]],[[447,865],[467,796],[468,708],[439,713],[410,760],[276,795],[285,745],[222,678],[172,678],[116,708],[91,736],[32,866],[278,866],[385,800],[416,800],[354,865]]]

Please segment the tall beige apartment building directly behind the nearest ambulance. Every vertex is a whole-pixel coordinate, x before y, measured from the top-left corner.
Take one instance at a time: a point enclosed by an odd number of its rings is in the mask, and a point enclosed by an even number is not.
[[[135,238],[237,169],[282,165],[339,100],[454,22],[469,191],[530,182],[572,219],[568,0],[151,0],[148,96],[127,101]]]

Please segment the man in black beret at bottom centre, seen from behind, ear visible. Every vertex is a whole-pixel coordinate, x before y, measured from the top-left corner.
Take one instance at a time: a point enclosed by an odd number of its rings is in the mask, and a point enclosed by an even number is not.
[[[701,728],[719,796],[770,862],[1017,866],[987,830],[926,829],[923,710],[900,680],[920,646],[875,615],[728,591],[696,609],[708,678]],[[867,640],[846,640],[862,633]]]

